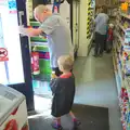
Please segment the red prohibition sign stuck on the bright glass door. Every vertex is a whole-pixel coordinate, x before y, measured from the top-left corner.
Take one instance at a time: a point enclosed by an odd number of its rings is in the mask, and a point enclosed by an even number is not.
[[[8,50],[4,48],[0,48],[0,62],[9,61]]]

